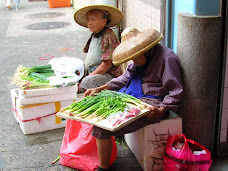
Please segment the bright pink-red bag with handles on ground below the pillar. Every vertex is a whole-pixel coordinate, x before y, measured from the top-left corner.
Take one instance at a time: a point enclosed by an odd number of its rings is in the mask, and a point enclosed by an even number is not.
[[[163,171],[208,171],[211,153],[201,144],[187,139],[184,134],[168,139],[163,158]]]

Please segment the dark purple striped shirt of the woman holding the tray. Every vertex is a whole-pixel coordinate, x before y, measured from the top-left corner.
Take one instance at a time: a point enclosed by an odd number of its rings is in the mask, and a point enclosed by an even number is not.
[[[156,107],[164,107],[168,111],[176,112],[183,96],[179,58],[171,49],[161,44],[147,51],[145,56],[152,58],[142,78],[142,91],[145,95],[162,97],[163,100],[145,97],[141,100]],[[108,82],[108,86],[113,90],[124,87],[136,67],[137,64],[130,64],[125,73]]]

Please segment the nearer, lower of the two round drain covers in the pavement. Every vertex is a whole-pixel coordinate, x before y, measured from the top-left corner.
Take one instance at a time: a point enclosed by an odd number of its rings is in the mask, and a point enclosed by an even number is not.
[[[71,25],[69,22],[43,22],[43,23],[35,23],[28,26],[25,26],[25,29],[28,30],[51,30],[63,28]]]

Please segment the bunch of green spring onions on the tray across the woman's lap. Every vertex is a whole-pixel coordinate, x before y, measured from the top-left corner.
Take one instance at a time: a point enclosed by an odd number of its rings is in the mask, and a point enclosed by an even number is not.
[[[60,110],[69,116],[79,116],[84,119],[105,119],[110,114],[123,112],[129,106],[142,109],[144,104],[137,98],[111,90],[102,90],[94,96],[86,96],[78,102]]]

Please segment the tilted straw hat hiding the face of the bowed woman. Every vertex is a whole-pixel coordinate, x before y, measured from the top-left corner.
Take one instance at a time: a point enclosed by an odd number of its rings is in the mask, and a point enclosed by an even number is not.
[[[163,39],[163,34],[155,29],[139,32],[133,27],[124,29],[121,43],[114,50],[113,64],[119,65],[148,51]]]

